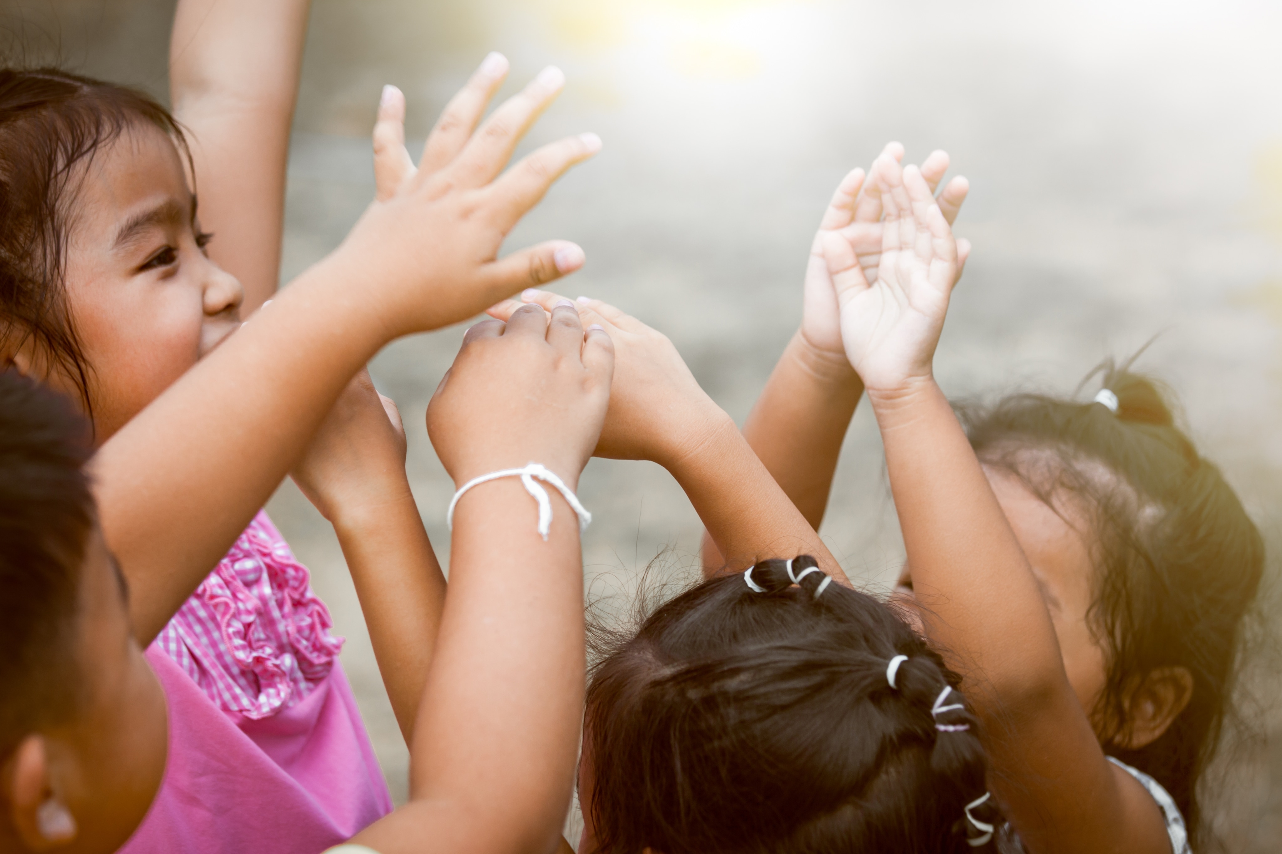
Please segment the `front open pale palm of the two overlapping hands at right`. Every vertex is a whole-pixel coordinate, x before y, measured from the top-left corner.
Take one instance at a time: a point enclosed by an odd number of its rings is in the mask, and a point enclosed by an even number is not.
[[[869,181],[885,207],[881,259],[869,282],[851,243],[823,238],[841,311],[846,357],[870,394],[931,378],[931,360],[956,282],[958,243],[917,166],[881,156]]]

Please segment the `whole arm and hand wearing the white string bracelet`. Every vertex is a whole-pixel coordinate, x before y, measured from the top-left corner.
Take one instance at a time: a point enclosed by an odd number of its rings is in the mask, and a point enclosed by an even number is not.
[[[469,332],[428,408],[456,485],[538,461],[574,489],[605,416],[610,339],[531,306]],[[517,478],[463,495],[450,592],[410,757],[410,803],[355,842],[382,854],[550,854],[574,778],[585,688],[578,521],[547,539]]]

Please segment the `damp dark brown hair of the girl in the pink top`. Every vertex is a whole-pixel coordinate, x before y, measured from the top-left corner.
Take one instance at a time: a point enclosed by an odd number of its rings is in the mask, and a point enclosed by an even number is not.
[[[0,347],[33,339],[86,412],[91,367],[64,292],[77,166],[136,124],[169,134],[190,163],[182,128],[144,92],[54,68],[0,69]]]

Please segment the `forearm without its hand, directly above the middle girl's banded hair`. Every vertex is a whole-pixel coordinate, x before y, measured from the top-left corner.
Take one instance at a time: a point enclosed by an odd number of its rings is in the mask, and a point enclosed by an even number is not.
[[[810,554],[824,572],[849,584],[845,572],[805,517],[783,494],[735,423],[720,414],[701,443],[667,462],[685,489],[722,561],[705,566],[742,570],[774,557]]]

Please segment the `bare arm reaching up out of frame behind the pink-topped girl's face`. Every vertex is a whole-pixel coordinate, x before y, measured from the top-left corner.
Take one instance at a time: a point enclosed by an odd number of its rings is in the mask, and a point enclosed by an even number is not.
[[[209,255],[245,286],[245,316],[276,293],[285,168],[310,0],[181,0],[169,42],[176,118],[191,131]]]

